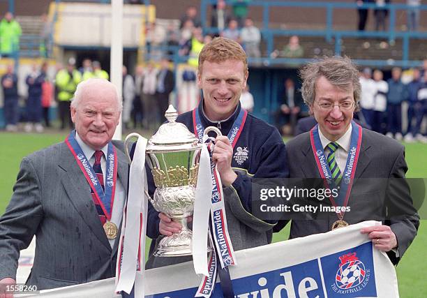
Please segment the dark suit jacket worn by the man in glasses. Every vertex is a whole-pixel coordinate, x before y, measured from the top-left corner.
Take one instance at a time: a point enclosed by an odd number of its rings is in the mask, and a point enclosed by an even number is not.
[[[319,178],[320,173],[310,145],[310,134],[303,133],[286,144],[290,178]],[[405,147],[389,137],[363,130],[359,162],[344,220],[350,224],[366,220],[389,225],[398,240],[400,257],[417,234],[419,216],[412,204],[405,180]],[[334,212],[315,220],[292,220],[290,238],[328,232],[338,218]],[[277,232],[287,223],[278,223]],[[394,252],[389,258],[397,264]]]

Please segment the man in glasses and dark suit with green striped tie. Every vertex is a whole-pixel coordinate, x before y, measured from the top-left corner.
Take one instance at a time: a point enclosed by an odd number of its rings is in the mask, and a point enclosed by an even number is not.
[[[405,180],[405,148],[352,120],[361,87],[350,59],[320,59],[303,68],[301,78],[304,101],[318,125],[287,142],[290,177],[327,181],[330,189],[338,190],[329,204],[340,207],[340,212],[327,212],[323,217],[300,214],[304,219],[295,216],[290,238],[366,220],[382,221],[382,225],[361,232],[397,264],[419,226]]]

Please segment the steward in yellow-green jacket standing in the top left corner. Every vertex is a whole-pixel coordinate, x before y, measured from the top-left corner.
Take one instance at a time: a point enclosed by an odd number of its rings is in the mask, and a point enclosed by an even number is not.
[[[0,54],[8,57],[19,50],[20,36],[22,34],[20,23],[13,19],[9,11],[0,22]]]

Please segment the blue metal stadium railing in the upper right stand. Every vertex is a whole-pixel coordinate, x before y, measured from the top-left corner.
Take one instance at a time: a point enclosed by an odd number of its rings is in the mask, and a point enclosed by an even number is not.
[[[230,4],[231,1],[226,1]],[[207,24],[207,11],[208,6],[216,3],[216,0],[202,0],[200,5],[200,19],[202,20],[202,27],[205,33],[217,33],[218,29],[209,27]],[[313,1],[250,1],[249,7],[261,7],[262,8],[262,27],[260,31],[262,37],[267,44],[267,53],[270,54],[274,51],[274,37],[275,36],[322,36],[329,43],[334,42],[334,52],[337,55],[341,54],[341,40],[342,38],[384,38],[389,42],[394,42],[397,39],[402,39],[402,59],[390,61],[389,59],[384,60],[365,60],[355,59],[358,64],[370,65],[376,67],[384,66],[401,66],[401,67],[413,67],[419,66],[420,61],[410,60],[410,40],[413,39],[425,39],[427,40],[427,32],[409,32],[409,31],[398,31],[396,30],[396,12],[398,10],[407,10],[411,8],[405,4],[387,4],[382,6],[382,9],[389,10],[389,26],[387,31],[351,31],[351,30],[335,30],[334,29],[334,10],[338,9],[354,9],[358,8],[378,8],[375,3],[365,3],[362,6],[357,6],[357,3],[343,3],[343,2],[313,2]],[[319,10],[326,9],[326,20],[324,22],[324,29],[313,30],[313,29],[273,29],[269,27],[270,24],[270,12],[274,8],[278,7],[298,7],[298,8],[319,8]],[[420,11],[427,10],[427,5],[421,5],[418,7]],[[266,57],[262,59],[264,65],[280,65],[288,63],[305,63],[308,59],[285,59],[276,58],[271,59]]]

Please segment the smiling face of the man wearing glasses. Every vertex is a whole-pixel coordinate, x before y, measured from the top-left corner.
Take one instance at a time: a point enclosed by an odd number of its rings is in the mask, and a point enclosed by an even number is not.
[[[353,88],[340,89],[325,77],[317,79],[315,84],[315,100],[310,106],[310,112],[319,124],[320,131],[331,142],[335,142],[347,131],[353,119],[354,105],[350,110],[340,111],[338,104],[346,101],[354,103]],[[332,103],[334,107],[330,111],[320,109],[322,103]]]

